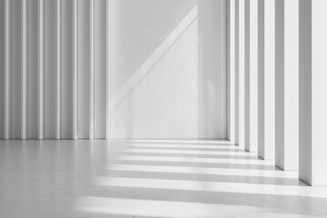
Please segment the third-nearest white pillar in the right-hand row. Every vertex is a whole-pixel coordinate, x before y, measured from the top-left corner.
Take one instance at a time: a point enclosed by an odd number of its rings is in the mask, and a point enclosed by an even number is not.
[[[258,68],[258,155],[274,159],[274,100],[275,100],[275,1],[258,1],[259,10],[259,68]]]

